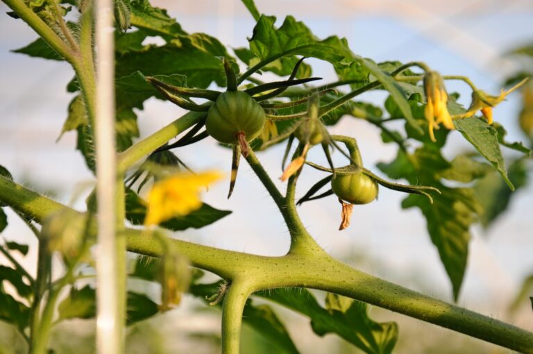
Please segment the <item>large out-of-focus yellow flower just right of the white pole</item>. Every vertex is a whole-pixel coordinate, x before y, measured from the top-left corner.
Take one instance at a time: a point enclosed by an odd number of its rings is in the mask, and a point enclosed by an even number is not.
[[[154,183],[148,197],[144,225],[158,225],[176,216],[189,214],[201,207],[200,189],[221,178],[215,171],[203,174],[180,173]]]

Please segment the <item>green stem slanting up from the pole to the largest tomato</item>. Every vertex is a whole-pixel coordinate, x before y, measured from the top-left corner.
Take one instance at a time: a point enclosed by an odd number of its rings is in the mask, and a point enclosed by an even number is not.
[[[194,126],[205,117],[205,112],[188,112],[171,124],[164,126],[149,137],[140,140],[118,155],[118,171],[123,173],[146,155],[171,140],[173,137]]]

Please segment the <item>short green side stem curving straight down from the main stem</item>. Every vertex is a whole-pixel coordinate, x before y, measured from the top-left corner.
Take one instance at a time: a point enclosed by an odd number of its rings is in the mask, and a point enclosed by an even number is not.
[[[222,306],[223,354],[239,354],[242,312],[251,292],[251,287],[246,283],[246,280],[237,278],[232,281],[226,296],[224,296]]]

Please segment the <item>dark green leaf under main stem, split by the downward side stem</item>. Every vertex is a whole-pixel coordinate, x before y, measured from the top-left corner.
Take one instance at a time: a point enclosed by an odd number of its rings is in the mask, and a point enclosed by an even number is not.
[[[207,301],[206,298],[208,296],[217,294],[218,288],[219,283],[192,284],[189,288],[189,292],[194,296],[201,297],[204,301]],[[220,308],[221,303],[219,303],[217,307]],[[276,349],[273,349],[273,353],[299,353],[294,342],[292,342],[287,329],[276,313],[273,312],[268,305],[255,306],[251,299],[248,299],[244,306],[242,321],[251,326],[254,330],[260,333],[260,335],[267,338],[271,344],[276,346]]]

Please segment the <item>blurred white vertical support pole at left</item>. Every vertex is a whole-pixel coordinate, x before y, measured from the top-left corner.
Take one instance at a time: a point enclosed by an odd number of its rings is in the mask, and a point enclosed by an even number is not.
[[[117,282],[115,154],[115,35],[113,1],[96,0],[96,196],[98,199],[98,248],[96,252],[96,351],[121,353],[119,289]]]

